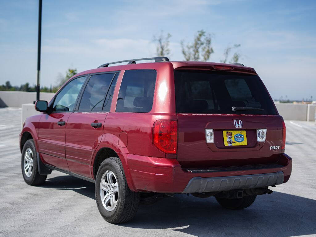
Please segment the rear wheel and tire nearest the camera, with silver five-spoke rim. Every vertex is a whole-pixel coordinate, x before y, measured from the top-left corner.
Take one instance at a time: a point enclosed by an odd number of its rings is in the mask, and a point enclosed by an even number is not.
[[[140,193],[129,189],[118,157],[107,158],[100,164],[94,190],[99,212],[107,222],[119,224],[136,215]]]

